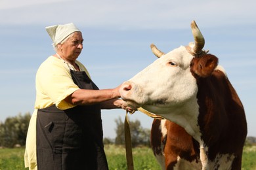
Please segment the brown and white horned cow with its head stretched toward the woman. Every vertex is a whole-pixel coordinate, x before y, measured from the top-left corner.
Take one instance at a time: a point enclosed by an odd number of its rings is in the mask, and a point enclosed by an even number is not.
[[[151,144],[162,169],[241,169],[247,135],[245,111],[218,58],[194,42],[165,54],[123,82],[121,98],[133,109],[158,114]]]

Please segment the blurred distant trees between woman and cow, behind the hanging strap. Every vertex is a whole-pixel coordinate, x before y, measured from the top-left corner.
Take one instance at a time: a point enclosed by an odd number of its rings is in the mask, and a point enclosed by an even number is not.
[[[116,122],[116,144],[125,144],[125,132],[123,120],[119,117]],[[131,143],[132,146],[138,146],[139,144],[150,145],[150,129],[145,129],[140,125],[139,120],[129,121],[131,131]]]

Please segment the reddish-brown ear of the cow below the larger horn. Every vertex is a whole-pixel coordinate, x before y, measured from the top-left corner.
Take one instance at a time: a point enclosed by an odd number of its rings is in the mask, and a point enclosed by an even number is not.
[[[218,65],[218,58],[211,54],[206,54],[200,58],[194,58],[191,63],[191,72],[200,76],[211,76]]]

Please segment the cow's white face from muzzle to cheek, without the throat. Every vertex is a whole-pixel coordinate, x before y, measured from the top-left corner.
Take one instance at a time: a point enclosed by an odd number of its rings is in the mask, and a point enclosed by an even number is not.
[[[143,106],[152,112],[164,113],[167,107],[182,105],[198,90],[190,72],[192,58],[184,46],[165,54],[128,80],[132,89],[121,89],[121,97],[131,107]]]

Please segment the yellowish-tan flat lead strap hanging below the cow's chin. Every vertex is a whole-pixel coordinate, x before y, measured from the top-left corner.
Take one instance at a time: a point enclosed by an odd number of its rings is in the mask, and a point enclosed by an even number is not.
[[[130,124],[129,124],[129,120],[128,120],[128,110],[126,110],[126,114],[125,114],[125,150],[126,150],[126,161],[127,161],[127,169],[128,170],[133,170],[134,166],[133,166],[133,150],[132,150],[132,146],[131,146],[131,130],[130,130]],[[152,112],[148,112],[145,109],[142,109],[142,107],[140,107],[138,109],[140,112],[143,112],[144,114],[150,116],[151,118],[156,118],[156,119],[163,119],[162,116],[158,116]],[[135,112],[135,111],[134,111]],[[129,112],[130,114],[133,114],[134,112]]]

